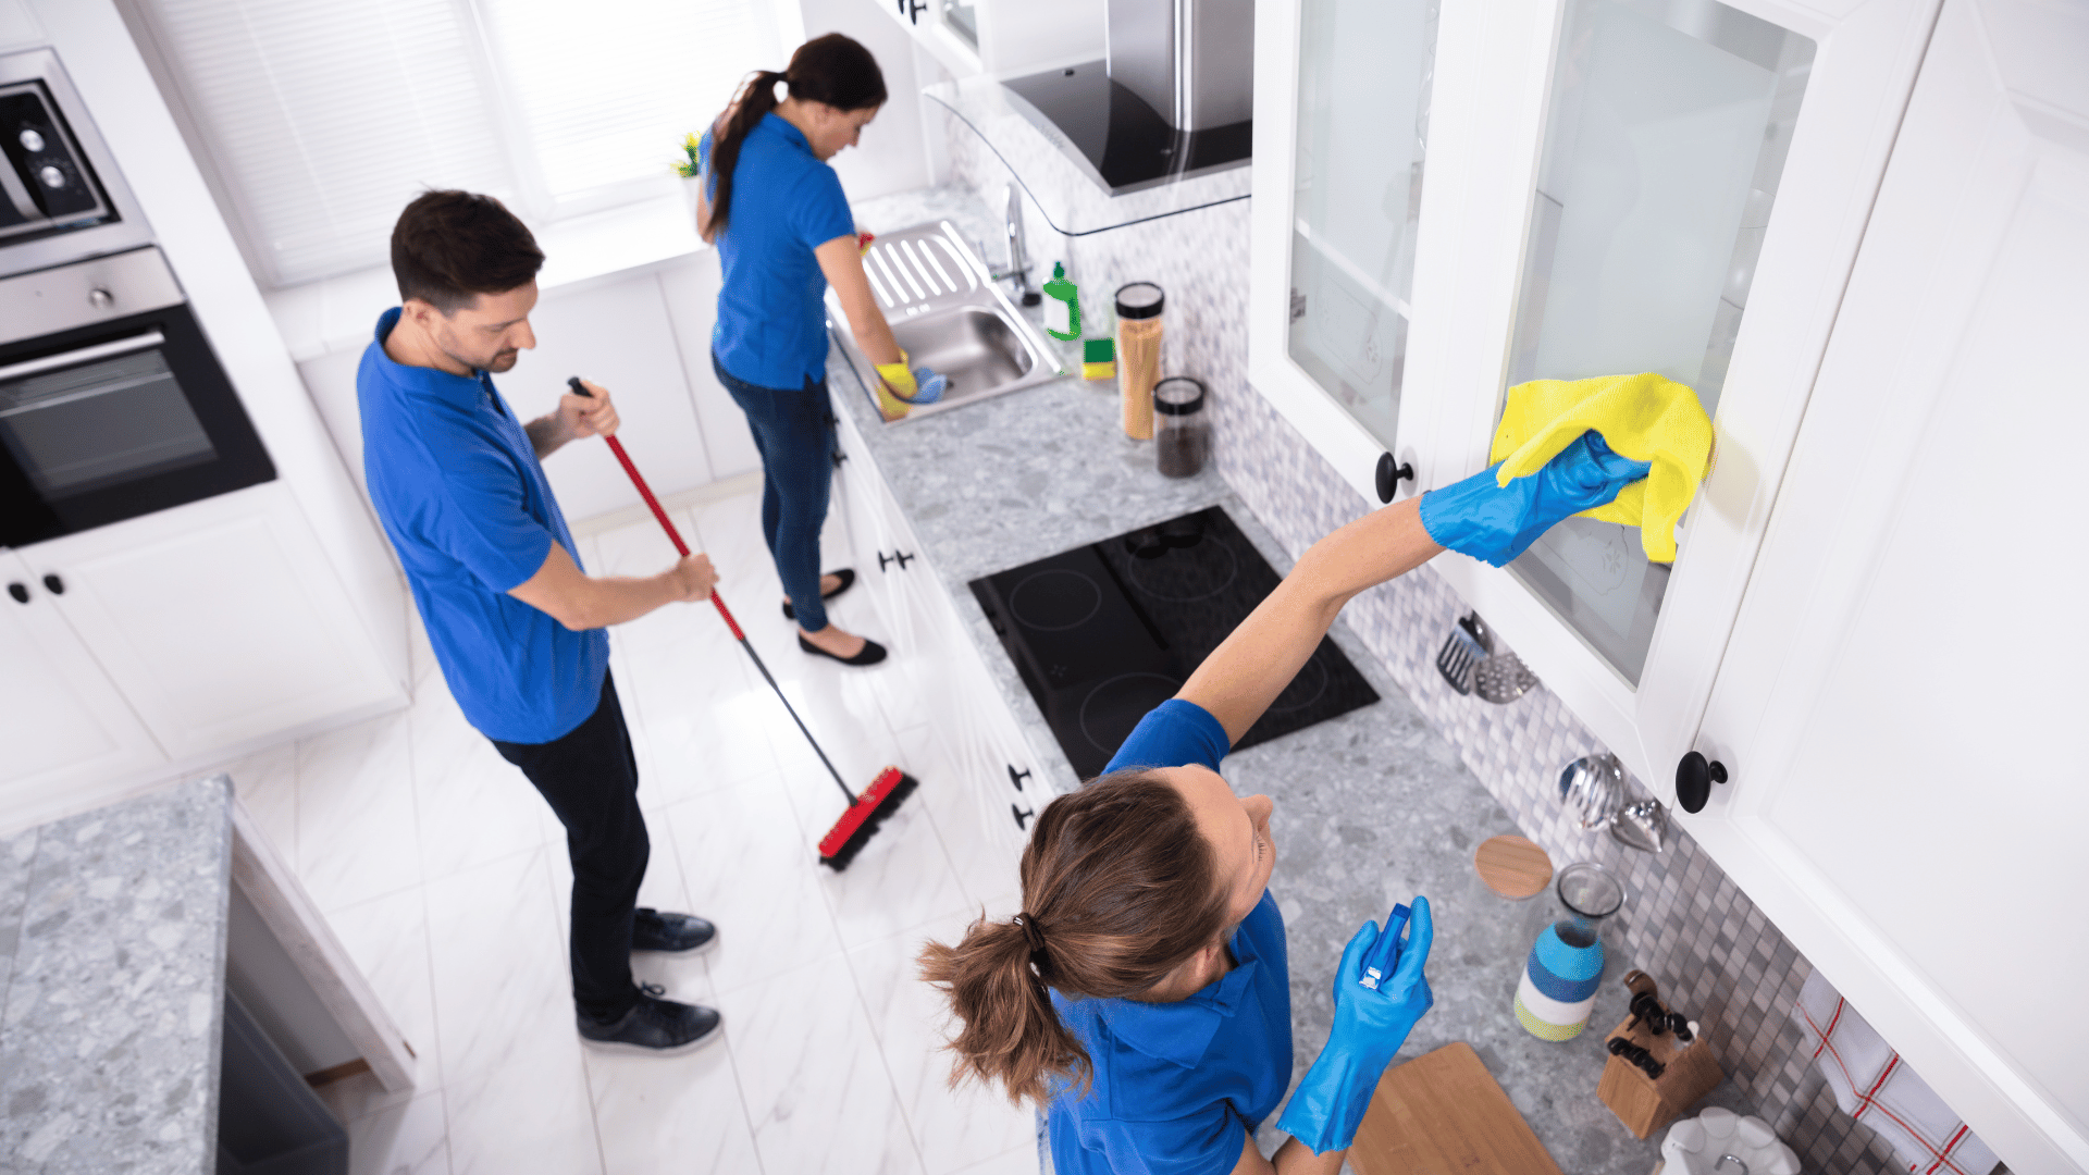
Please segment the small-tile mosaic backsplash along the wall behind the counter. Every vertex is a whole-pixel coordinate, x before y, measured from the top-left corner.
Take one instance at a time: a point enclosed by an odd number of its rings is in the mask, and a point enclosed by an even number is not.
[[[1007,165],[955,119],[948,144],[950,182],[999,209]],[[1051,151],[1042,138],[1038,151]],[[1212,460],[1295,556],[1368,504],[1247,385],[1249,207],[1241,201],[1078,238],[1051,232],[1026,209],[1026,232],[1032,263],[1049,272],[1051,261],[1065,261],[1080,284],[1090,337],[1109,328],[1103,318],[1109,291],[1130,280],[1161,284],[1168,293],[1161,368],[1205,383],[1216,435]],[[994,243],[988,257],[1003,259]],[[1116,385],[1097,389],[1116,393]],[[1525,836],[1556,863],[1594,859],[1625,878],[1625,907],[1604,930],[1613,958],[1652,974],[1663,999],[1703,1024],[1740,1100],[1799,1152],[1807,1171],[1905,1171],[1870,1127],[1836,1110],[1834,1093],[1801,1047],[1792,1008],[1813,966],[1763,912],[1675,828],[1667,851],[1654,855],[1575,826],[1556,799],[1556,778],[1565,763],[1602,744],[1550,690],[1496,707],[1458,696],[1435,673],[1437,646],[1464,610],[1458,594],[1423,567],[1356,598],[1343,617]],[[1638,780],[1632,784],[1646,792]],[[1617,964],[1611,970],[1623,974]]]

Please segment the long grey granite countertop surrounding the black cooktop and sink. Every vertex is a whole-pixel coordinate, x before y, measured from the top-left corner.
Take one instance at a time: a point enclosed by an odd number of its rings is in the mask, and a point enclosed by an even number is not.
[[[925,190],[865,201],[856,220],[888,232],[948,217],[971,240],[999,240],[999,220],[969,192]],[[994,255],[988,255],[994,261]],[[919,420],[884,424],[836,351],[829,387],[907,514],[1003,702],[1059,790],[1076,776],[1044,715],[986,623],[967,581],[1176,514],[1224,506],[1278,571],[1291,556],[1212,468],[1168,479],[1153,445],[1124,439],[1116,383],[1067,376]],[[1469,1041],[1517,1110],[1569,1173],[1652,1171],[1659,1139],[1640,1142],[1596,1098],[1602,1035],[1627,1016],[1617,978],[1634,966],[1611,945],[1590,1031],[1565,1043],[1525,1033],[1510,1012],[1531,943],[1560,914],[1550,893],[1506,901],[1473,872],[1473,849],[1519,832],[1385,665],[1337,623],[1333,640],[1379,692],[1379,705],[1230,755],[1226,780],[1266,792],[1276,811],[1270,889],[1291,945],[1297,1073],[1333,1022],[1329,978],[1366,918],[1429,895],[1437,937],[1429,962],[1435,1008],[1402,1058]],[[902,652],[905,654],[905,652]],[[1726,1104],[1732,1083],[1713,1093]],[[1744,1104],[1732,1106],[1748,1112]],[[1266,1144],[1276,1135],[1264,1125]]]

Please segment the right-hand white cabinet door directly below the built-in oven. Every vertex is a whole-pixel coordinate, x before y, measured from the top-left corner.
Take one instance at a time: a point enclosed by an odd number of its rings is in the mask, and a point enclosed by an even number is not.
[[[175,761],[403,700],[282,483],[17,556]]]

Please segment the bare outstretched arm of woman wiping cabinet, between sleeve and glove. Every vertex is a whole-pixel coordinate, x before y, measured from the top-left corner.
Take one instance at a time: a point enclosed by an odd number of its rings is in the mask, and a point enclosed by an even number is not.
[[[1341,527],[1299,556],[1291,575],[1203,659],[1176,696],[1210,711],[1226,738],[1239,742],[1320,646],[1352,596],[1414,571],[1441,550],[1423,529],[1421,498]]]

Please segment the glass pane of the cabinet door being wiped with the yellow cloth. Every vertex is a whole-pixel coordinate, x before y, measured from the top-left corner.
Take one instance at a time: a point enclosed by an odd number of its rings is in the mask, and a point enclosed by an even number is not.
[[[1815,46],[1717,0],[1567,0],[1556,44],[1504,387],[1659,372],[1713,414]],[[1569,519],[1510,571],[1640,682],[1669,567],[1636,529]]]

